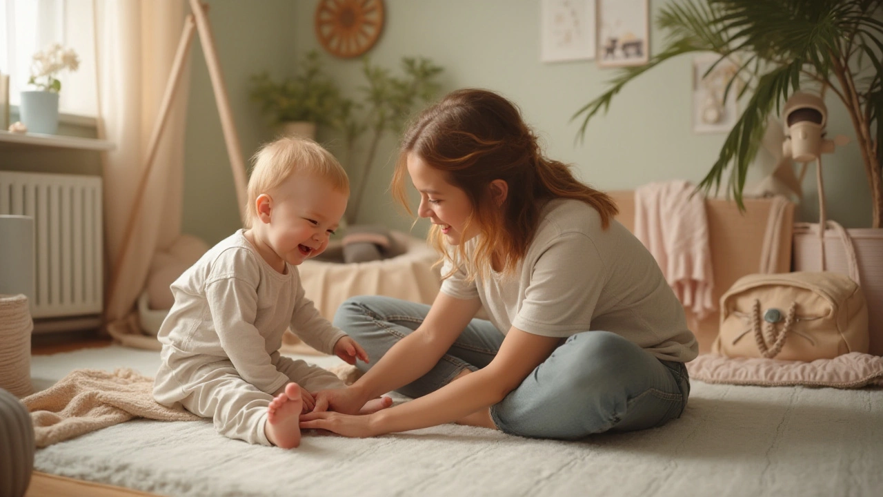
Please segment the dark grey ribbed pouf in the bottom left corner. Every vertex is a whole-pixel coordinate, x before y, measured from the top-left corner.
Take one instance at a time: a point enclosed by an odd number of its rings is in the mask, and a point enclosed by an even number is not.
[[[0,388],[0,495],[20,497],[34,471],[34,425],[27,408]]]

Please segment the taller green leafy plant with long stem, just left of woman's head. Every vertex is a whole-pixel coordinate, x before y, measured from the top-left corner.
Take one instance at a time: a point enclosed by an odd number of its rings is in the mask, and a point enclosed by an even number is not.
[[[442,67],[434,65],[428,58],[403,57],[404,75],[396,77],[389,69],[372,65],[369,59],[364,59],[362,74],[366,85],[358,88],[362,100],[356,102],[343,98],[331,123],[343,134],[343,164],[351,163],[358,141],[367,136],[367,151],[361,160],[358,180],[354,181],[356,189],[346,217],[349,224],[355,224],[358,219],[368,175],[381,138],[388,132],[401,133],[407,119],[419,110],[420,105],[433,98],[439,89],[435,80],[442,71]]]

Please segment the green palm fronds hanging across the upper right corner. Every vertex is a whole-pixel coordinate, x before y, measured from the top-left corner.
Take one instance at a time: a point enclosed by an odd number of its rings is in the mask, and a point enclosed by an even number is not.
[[[834,92],[849,111],[871,187],[873,227],[883,218],[883,0],[680,0],[660,10],[657,25],[668,29],[666,47],[649,63],[630,67],[608,91],[586,103],[578,136],[630,80],[670,58],[714,52],[739,68],[726,91],[750,95],[742,116],[698,187],[728,188],[740,208],[748,166],[766,132],[767,118],[800,88]],[[717,63],[715,63],[716,65]],[[713,70],[713,66],[709,72]],[[707,74],[707,73],[706,73]],[[726,101],[726,95],[724,96]],[[876,131],[873,131],[876,128]]]

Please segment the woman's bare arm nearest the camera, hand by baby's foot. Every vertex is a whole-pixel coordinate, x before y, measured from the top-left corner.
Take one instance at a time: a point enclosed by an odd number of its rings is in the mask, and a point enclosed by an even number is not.
[[[432,394],[368,416],[309,413],[301,417],[300,426],[345,436],[368,437],[451,423],[502,401],[552,354],[559,340],[511,328],[500,351],[487,367]]]

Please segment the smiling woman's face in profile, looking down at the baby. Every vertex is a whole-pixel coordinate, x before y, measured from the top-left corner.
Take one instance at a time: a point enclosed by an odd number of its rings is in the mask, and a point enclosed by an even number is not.
[[[464,233],[466,219],[472,214],[472,203],[462,189],[451,185],[443,172],[426,164],[417,154],[408,154],[407,165],[411,183],[420,193],[417,209],[420,218],[429,218],[439,226],[451,245],[459,245],[479,233],[475,223]]]

